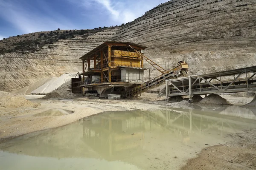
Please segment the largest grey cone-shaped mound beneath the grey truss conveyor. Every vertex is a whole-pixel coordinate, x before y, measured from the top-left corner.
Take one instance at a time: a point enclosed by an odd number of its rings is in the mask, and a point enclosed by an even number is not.
[[[218,94],[210,94],[198,103],[202,105],[230,105],[226,99],[219,96]]]

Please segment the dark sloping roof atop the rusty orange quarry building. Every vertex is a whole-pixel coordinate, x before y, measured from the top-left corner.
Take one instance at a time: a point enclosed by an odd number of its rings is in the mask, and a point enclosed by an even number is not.
[[[147,48],[146,46],[139,45],[139,44],[134,44],[132,42],[106,41],[106,42],[102,43],[101,45],[97,46],[96,48],[94,48],[92,51],[88,52],[87,54],[84,54],[82,57],[80,57],[80,59],[87,58],[87,57],[91,56],[92,54],[94,54],[99,49],[105,48],[105,47],[108,46],[108,44],[111,44],[111,43],[119,43],[119,44],[124,44],[124,45],[133,45],[135,47],[139,47],[139,48],[143,48],[143,49]]]

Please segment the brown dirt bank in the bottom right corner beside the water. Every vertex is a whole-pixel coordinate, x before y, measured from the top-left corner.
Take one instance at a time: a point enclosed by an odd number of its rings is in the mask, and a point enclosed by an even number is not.
[[[256,130],[231,134],[234,141],[207,147],[181,170],[255,170]]]

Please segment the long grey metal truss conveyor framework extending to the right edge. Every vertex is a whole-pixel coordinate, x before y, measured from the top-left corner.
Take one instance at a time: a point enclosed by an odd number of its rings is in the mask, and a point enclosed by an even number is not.
[[[205,95],[256,91],[256,66],[189,76],[166,81],[166,99],[171,96]]]

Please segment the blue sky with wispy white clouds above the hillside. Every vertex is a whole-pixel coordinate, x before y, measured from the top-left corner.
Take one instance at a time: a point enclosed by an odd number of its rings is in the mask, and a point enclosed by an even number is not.
[[[116,26],[168,0],[0,0],[0,40],[38,31]]]

